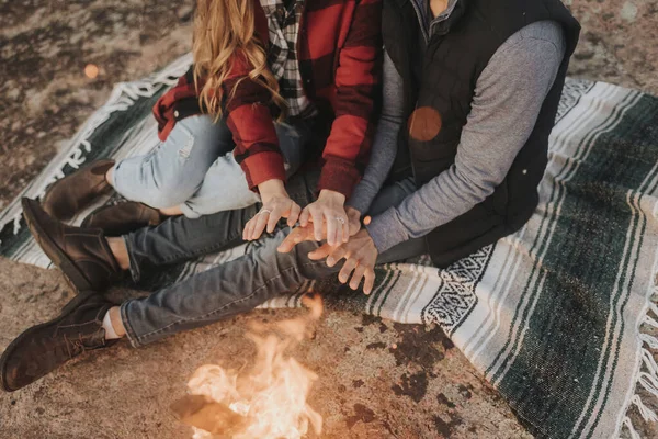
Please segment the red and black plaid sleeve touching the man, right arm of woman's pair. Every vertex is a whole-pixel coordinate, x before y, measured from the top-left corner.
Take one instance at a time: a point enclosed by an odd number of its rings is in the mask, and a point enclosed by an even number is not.
[[[336,120],[325,146],[318,189],[349,198],[370,157],[382,55],[382,1],[360,0],[336,71]]]

